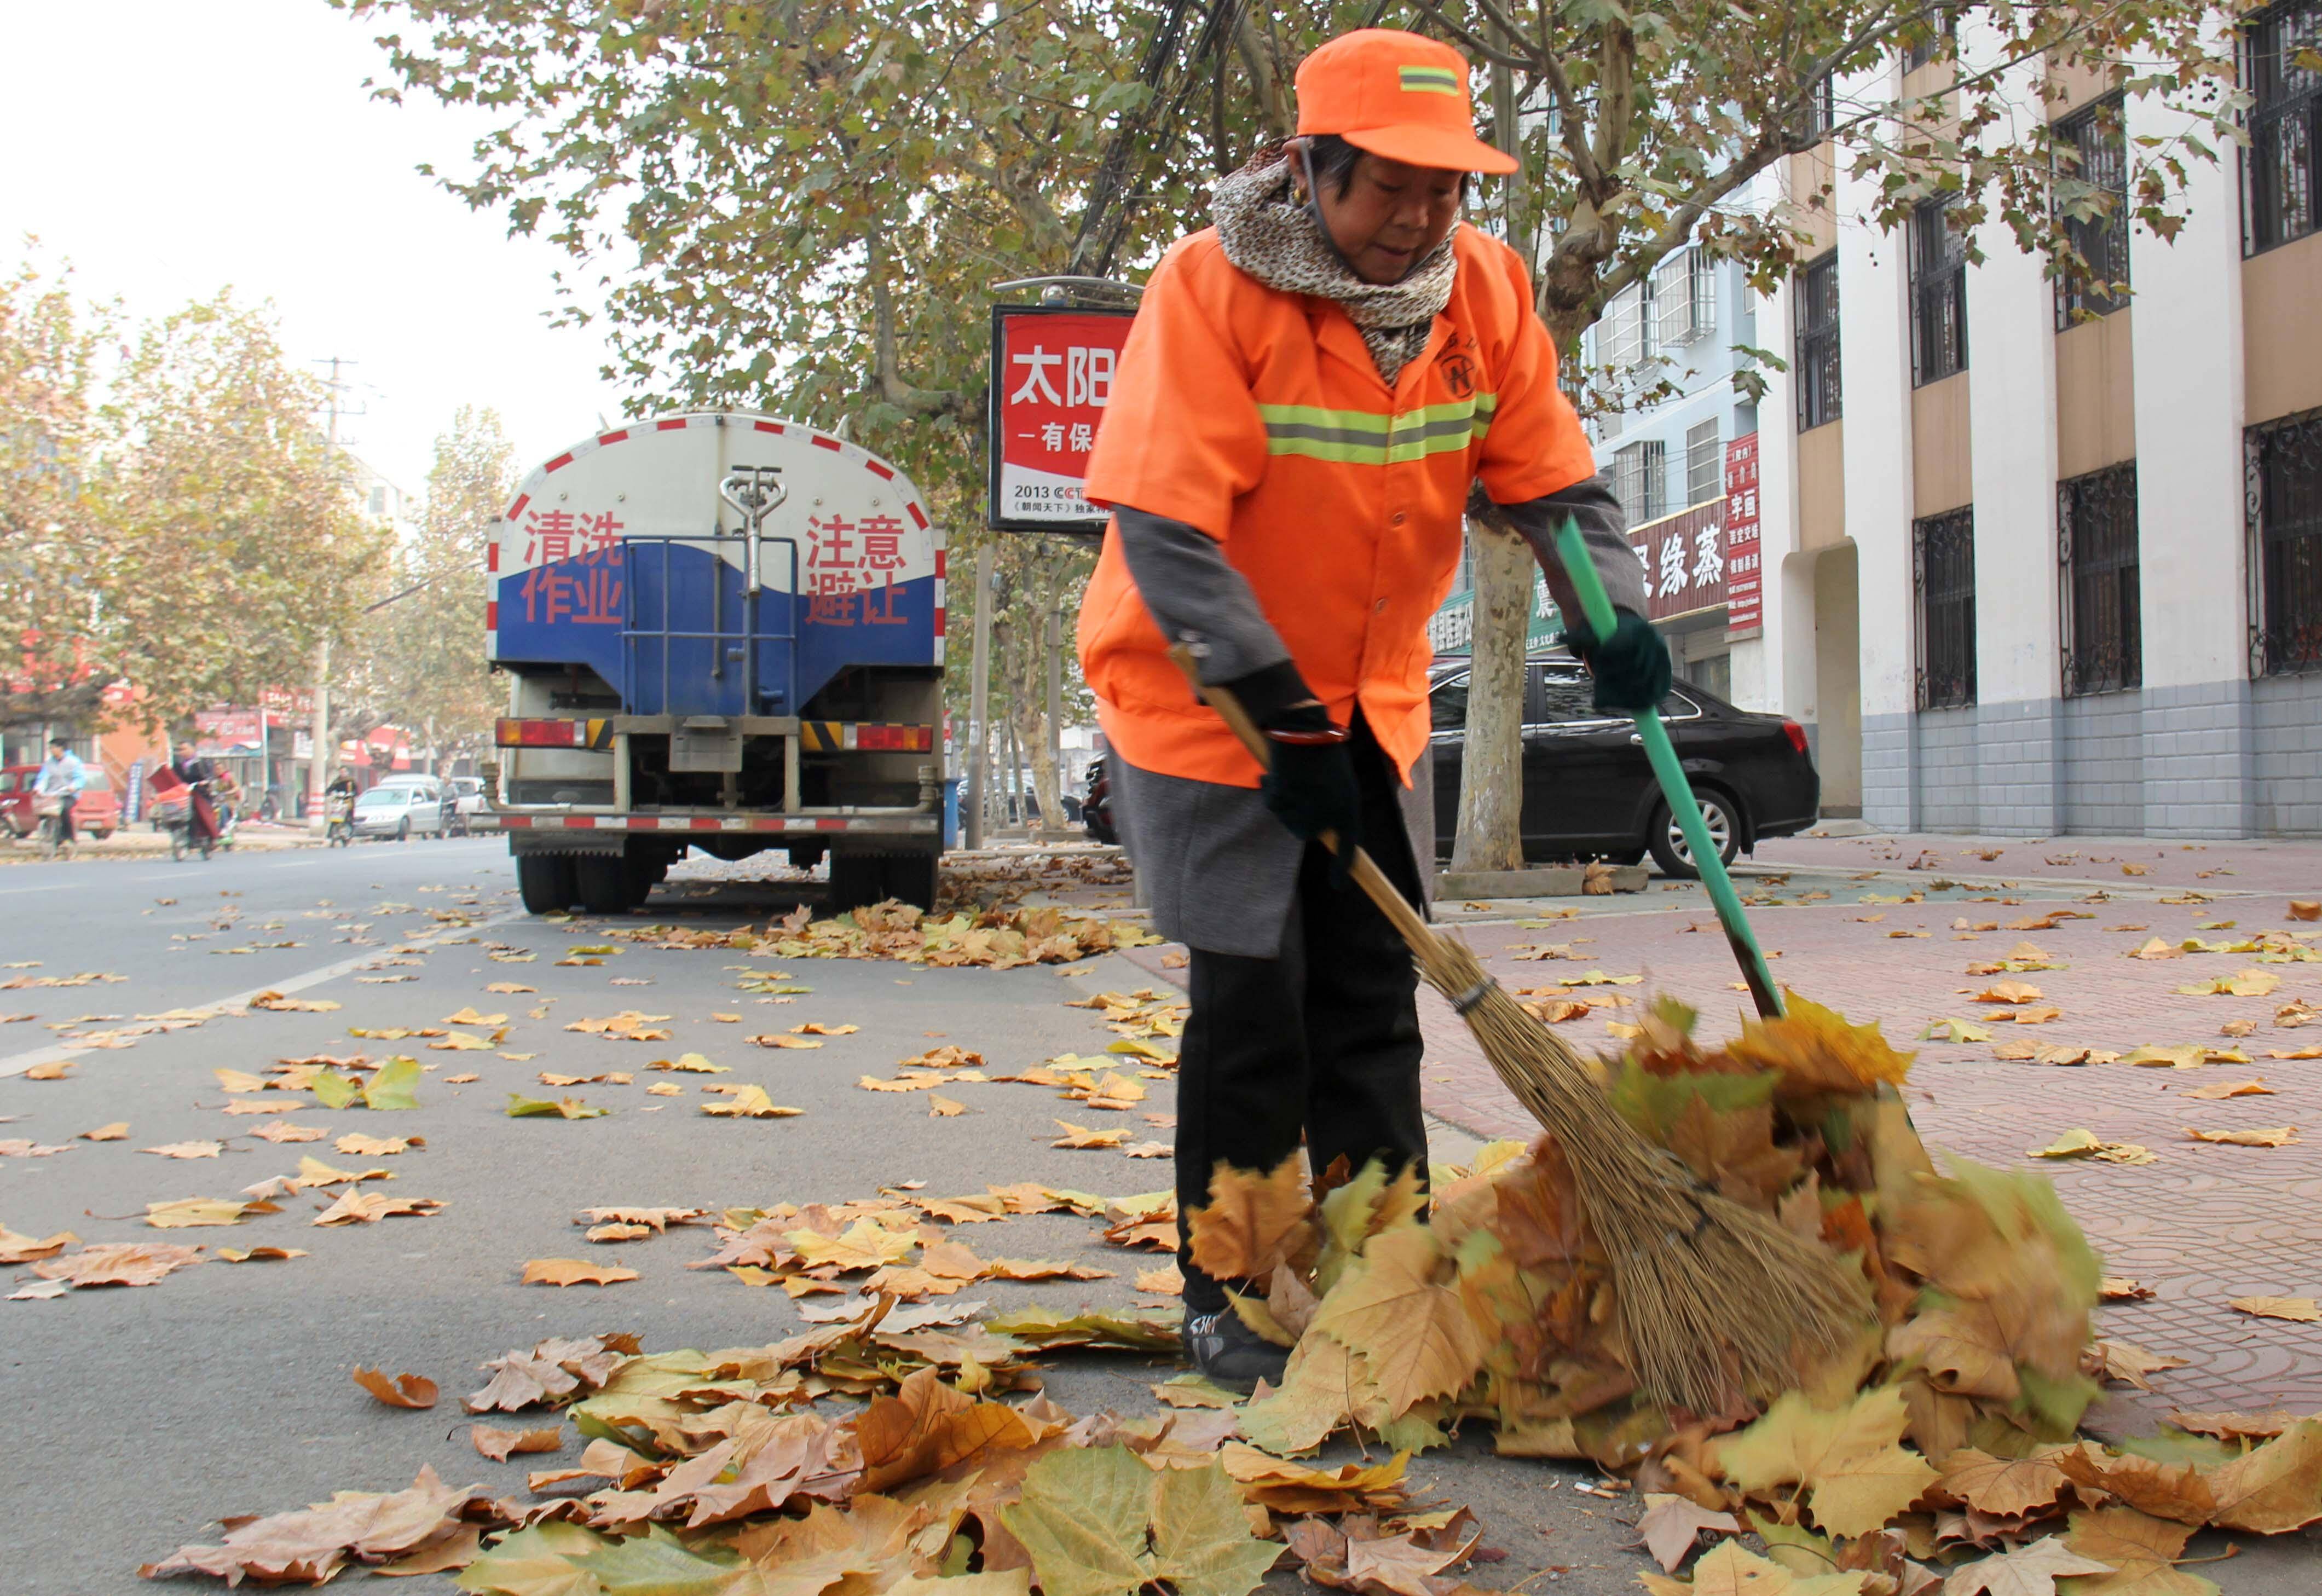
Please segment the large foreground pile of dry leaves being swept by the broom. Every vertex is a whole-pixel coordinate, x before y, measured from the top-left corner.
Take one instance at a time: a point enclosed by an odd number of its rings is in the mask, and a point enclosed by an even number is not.
[[[1690,1025],[1649,1013],[1605,1090],[1702,1180],[1858,1261],[1860,1343],[1793,1389],[1709,1415],[1637,1392],[1611,1268],[1546,1138],[1493,1143],[1433,1199],[1377,1169],[1224,1178],[1194,1257],[1263,1282],[1238,1313],[1296,1352],[1277,1392],[1238,1403],[1177,1378],[1147,1417],[1057,1408],[1040,1354],[1168,1354],[1175,1308],[991,1315],[966,1287],[1096,1271],[987,1257],[966,1227],[1063,1208],[1166,1250],[1168,1194],[892,1189],[720,1215],[699,1266],[801,1299],[799,1336],[657,1354],[550,1340],[490,1364],[471,1412],[562,1408],[587,1440],[578,1466],[529,1478],[532,1501],[423,1473],[230,1519],[223,1545],[146,1573],[460,1568],[460,1589],[499,1596],[1247,1596],[1293,1557],[1365,1596],[1468,1596],[1472,1515],[1405,1494],[1409,1457],[1463,1424],[1488,1424],[1502,1454],[1632,1482],[1663,1568],[1700,1552],[1688,1580],[1639,1575],[1656,1596],[2046,1596],[2060,1577],[2199,1596],[2215,1587],[2176,1566],[2192,1529],[2322,1519],[2322,1419],[2180,1415],[2190,1429],[2150,1443],[2078,1438],[2092,1373],[2134,1364],[2090,1340],[2097,1259],[2046,1180],[1934,1169],[1895,1092],[1909,1059],[1874,1027],[1797,999],[1723,1050]],[[1138,1289],[1166,1296],[1173,1273]],[[803,1301],[820,1296],[841,1301]],[[483,1429],[476,1447],[555,1450],[560,1429]],[[1384,1457],[1298,1461],[1342,1433]]]

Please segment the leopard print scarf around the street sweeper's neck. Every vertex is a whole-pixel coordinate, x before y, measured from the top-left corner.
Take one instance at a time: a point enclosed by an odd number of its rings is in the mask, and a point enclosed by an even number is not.
[[[1389,386],[1428,346],[1435,318],[1451,302],[1458,260],[1451,239],[1421,256],[1398,283],[1365,283],[1337,253],[1314,211],[1291,197],[1291,163],[1268,144],[1240,172],[1219,179],[1210,197],[1226,260],[1282,293],[1337,300]]]

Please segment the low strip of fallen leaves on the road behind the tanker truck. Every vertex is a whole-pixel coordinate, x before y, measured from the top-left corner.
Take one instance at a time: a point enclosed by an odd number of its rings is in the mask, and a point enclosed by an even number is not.
[[[734,948],[776,959],[901,959],[906,964],[1012,969],[1070,964],[1115,948],[1161,941],[1126,920],[1089,920],[1063,908],[987,908],[929,915],[887,899],[815,920],[801,904],[764,932],[706,932],[678,925],[601,927],[604,936],[655,948]]]

